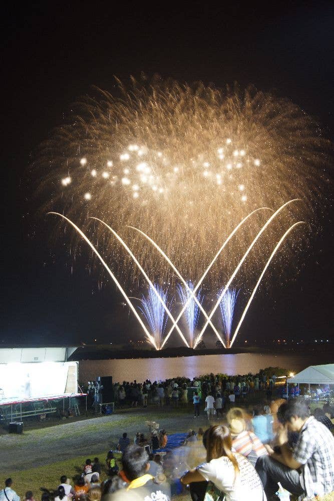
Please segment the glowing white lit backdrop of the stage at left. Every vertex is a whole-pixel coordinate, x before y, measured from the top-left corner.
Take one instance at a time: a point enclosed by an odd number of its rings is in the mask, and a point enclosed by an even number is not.
[[[0,400],[23,400],[62,395],[73,362],[0,364]],[[72,370],[73,373],[73,370]],[[68,392],[72,393],[72,388]]]

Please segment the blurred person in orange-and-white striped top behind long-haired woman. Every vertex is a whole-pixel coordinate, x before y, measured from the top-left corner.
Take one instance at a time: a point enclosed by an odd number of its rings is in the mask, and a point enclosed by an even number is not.
[[[232,446],[235,452],[247,457],[248,461],[255,466],[257,458],[267,455],[268,452],[257,436],[246,429],[246,422],[242,418],[233,418],[228,424]]]

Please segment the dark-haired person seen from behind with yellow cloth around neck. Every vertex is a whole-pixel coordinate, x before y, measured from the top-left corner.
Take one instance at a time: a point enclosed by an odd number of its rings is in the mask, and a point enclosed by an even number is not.
[[[143,447],[129,445],[122,455],[123,470],[130,483],[124,490],[111,495],[110,500],[120,499],[163,499],[170,501],[170,486],[165,475],[153,478],[148,474],[148,455]]]

